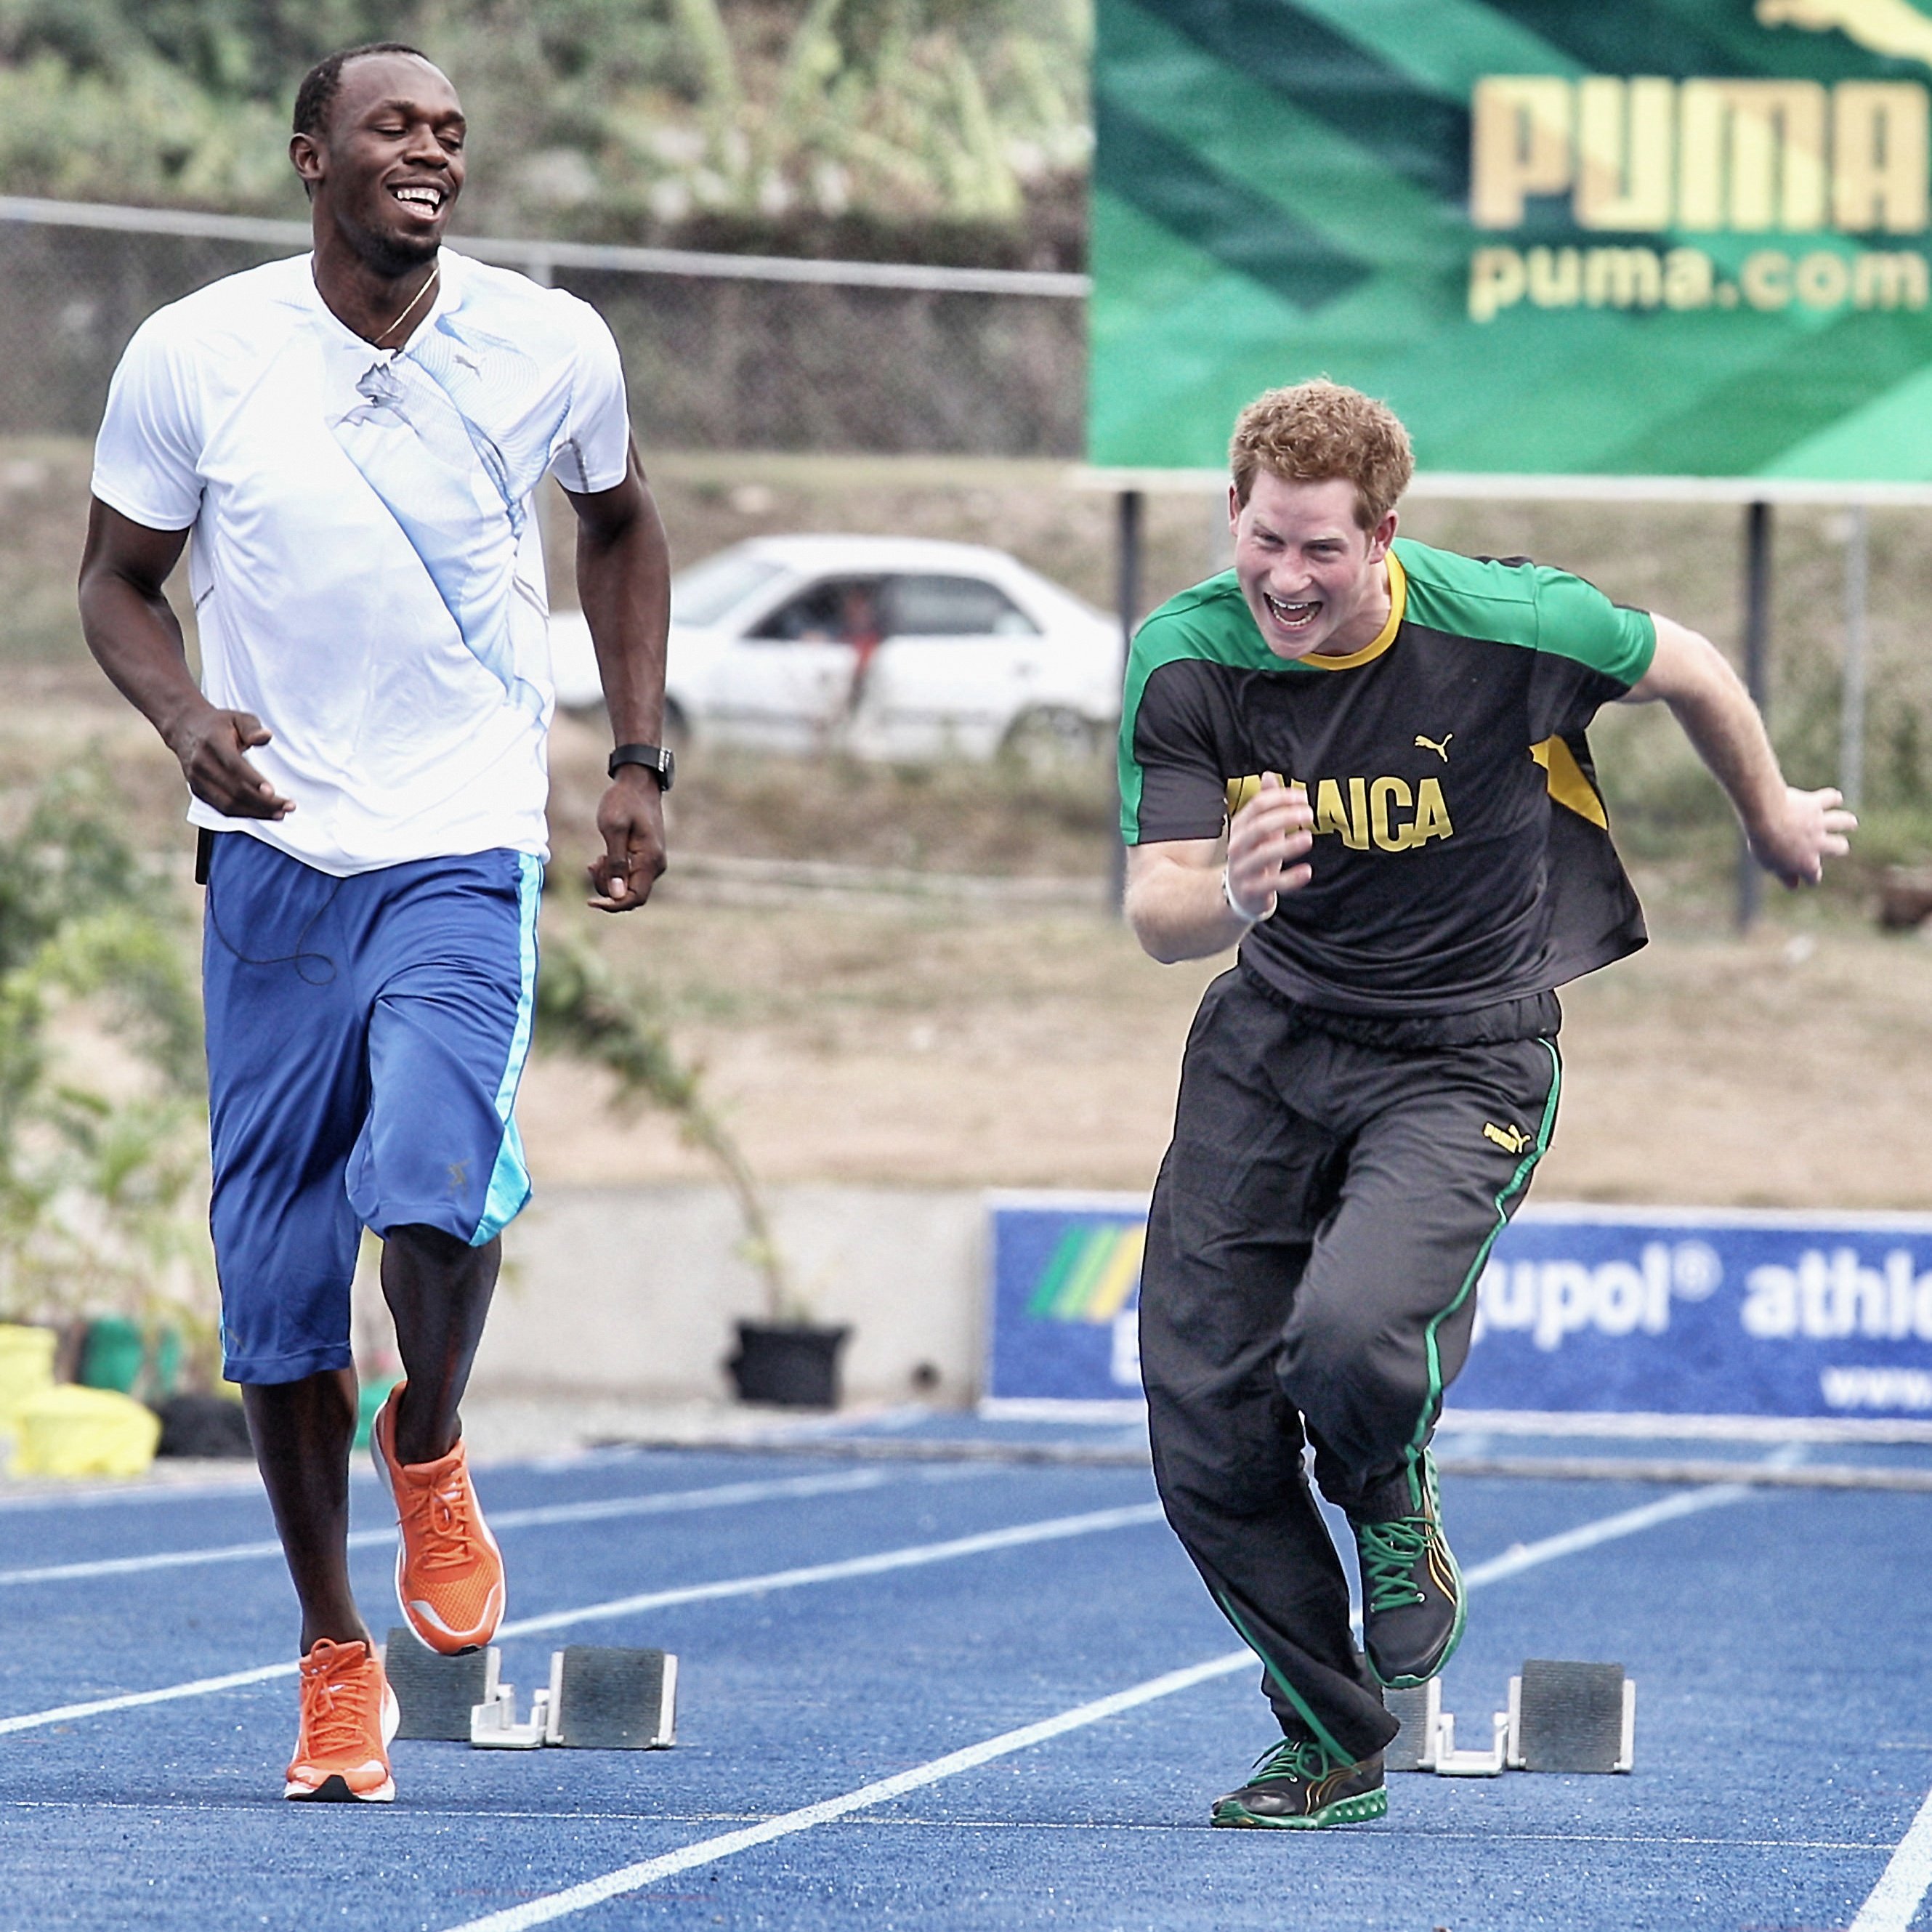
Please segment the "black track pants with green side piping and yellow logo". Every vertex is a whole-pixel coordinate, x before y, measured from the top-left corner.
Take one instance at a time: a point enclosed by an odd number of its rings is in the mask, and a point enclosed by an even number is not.
[[[1557,1088],[1551,1039],[1366,1047],[1240,970],[1188,1037],[1140,1289],[1153,1474],[1275,1714],[1349,1758],[1397,1725],[1349,1631],[1304,1432],[1343,1509],[1414,1468]]]

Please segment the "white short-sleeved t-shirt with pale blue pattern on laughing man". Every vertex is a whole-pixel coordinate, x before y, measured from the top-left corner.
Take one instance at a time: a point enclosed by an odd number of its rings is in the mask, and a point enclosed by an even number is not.
[[[274,734],[296,810],[189,821],[321,871],[547,856],[549,601],[531,491],[624,479],[624,371],[583,301],[442,251],[400,352],[346,328],[311,259],[151,315],[122,355],[95,495],[193,527],[201,684]]]

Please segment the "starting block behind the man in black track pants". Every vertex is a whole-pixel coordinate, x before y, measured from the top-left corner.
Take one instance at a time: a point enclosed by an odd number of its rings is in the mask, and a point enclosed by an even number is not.
[[[1441,1685],[1383,1694],[1401,1731],[1383,1748],[1383,1770],[1437,1777],[1511,1772],[1629,1772],[1636,1762],[1636,1683],[1621,1663],[1557,1663],[1530,1658],[1509,1679],[1509,1708],[1492,1718],[1490,1748],[1457,1748],[1455,1716]]]

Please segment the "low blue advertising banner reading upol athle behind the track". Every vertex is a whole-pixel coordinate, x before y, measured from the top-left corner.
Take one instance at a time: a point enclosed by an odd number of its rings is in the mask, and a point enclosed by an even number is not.
[[[989,1200],[987,1406],[1140,1397],[1138,1196]],[[1932,1418],[1932,1215],[1524,1208],[1455,1408]]]

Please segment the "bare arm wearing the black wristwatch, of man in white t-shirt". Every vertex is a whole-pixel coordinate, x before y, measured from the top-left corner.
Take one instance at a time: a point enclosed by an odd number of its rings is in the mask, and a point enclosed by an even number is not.
[[[578,601],[591,628],[597,674],[616,744],[661,744],[665,636],[670,626],[670,551],[638,452],[614,489],[580,497]],[[605,848],[591,860],[591,904],[630,912],[665,869],[665,794],[643,765],[618,765],[597,806]]]

